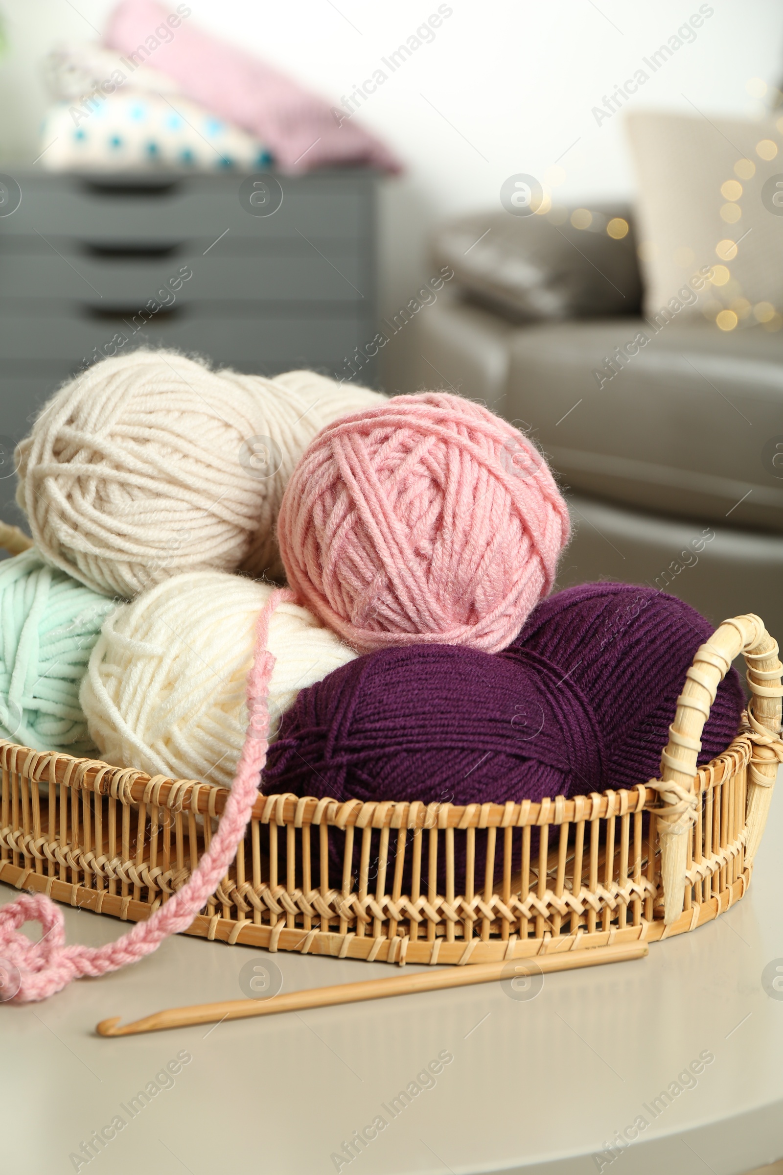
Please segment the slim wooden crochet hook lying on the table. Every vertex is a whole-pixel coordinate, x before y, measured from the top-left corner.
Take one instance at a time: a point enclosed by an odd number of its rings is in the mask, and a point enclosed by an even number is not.
[[[325,1008],[336,1003],[357,1003],[360,1000],[380,1000],[391,995],[411,995],[414,992],[436,992],[444,987],[466,987],[497,979],[512,979],[509,962],[535,964],[542,973],[571,971],[575,967],[596,967],[605,962],[642,959],[647,942],[621,942],[588,951],[561,951],[553,954],[531,955],[526,959],[484,962],[465,967],[439,967],[437,971],[409,972],[390,979],[367,979],[358,983],[338,983],[336,987],[315,987],[304,992],[289,992],[270,1000],[223,1000],[221,1003],[194,1003],[187,1008],[167,1008],[151,1016],[134,1020],[120,1028],[122,1016],[101,1020],[95,1030],[100,1036],[133,1036],[141,1032],[161,1032],[163,1028],[187,1028],[245,1016],[271,1016],[278,1012],[303,1012],[305,1008]]]

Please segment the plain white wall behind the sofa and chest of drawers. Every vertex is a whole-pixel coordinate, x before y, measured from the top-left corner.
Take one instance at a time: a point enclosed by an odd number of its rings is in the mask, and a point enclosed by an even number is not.
[[[439,0],[189,0],[194,21],[251,49],[339,102],[379,67]],[[560,179],[558,196],[633,192],[619,114],[592,107],[698,12],[700,0],[450,0],[453,14],[364,105],[409,172],[382,203],[383,311],[427,276],[439,217],[499,207],[502,181]],[[38,62],[59,38],[94,38],[109,0],[0,0],[11,41],[0,61],[0,153],[32,162],[45,105]],[[714,14],[633,99],[636,106],[758,115],[747,82],[783,79],[779,0],[713,0]],[[93,28],[94,26],[94,28]],[[382,67],[383,68],[383,67]],[[642,68],[644,68],[642,66]],[[387,70],[386,70],[387,72]],[[648,70],[649,72],[649,70]],[[691,105],[693,103],[693,105]],[[437,109],[433,109],[437,107]],[[579,140],[571,150],[567,150]],[[560,160],[562,174],[551,168]],[[390,377],[396,378],[393,369]],[[401,376],[400,376],[401,377]]]

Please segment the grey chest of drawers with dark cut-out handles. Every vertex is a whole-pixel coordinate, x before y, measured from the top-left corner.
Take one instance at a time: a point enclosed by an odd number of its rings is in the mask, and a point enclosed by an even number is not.
[[[279,176],[268,216],[249,210],[239,175],[12,174],[22,199],[0,216],[0,517],[20,521],[13,443],[101,356],[173,347],[241,371],[344,376],[373,337],[372,172]],[[373,377],[365,365],[362,381]]]

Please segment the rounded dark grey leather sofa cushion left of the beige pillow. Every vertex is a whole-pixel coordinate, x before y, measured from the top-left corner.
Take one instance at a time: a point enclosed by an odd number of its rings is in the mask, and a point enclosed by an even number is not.
[[[610,236],[612,220],[623,220],[629,231]],[[633,222],[622,206],[531,216],[478,213],[443,226],[433,247],[436,264],[451,266],[463,289],[517,321],[640,309]]]

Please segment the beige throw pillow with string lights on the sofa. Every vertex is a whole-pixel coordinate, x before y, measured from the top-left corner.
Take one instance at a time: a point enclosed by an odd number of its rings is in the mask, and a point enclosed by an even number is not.
[[[677,318],[717,320],[728,330],[757,320],[779,328],[783,207],[771,199],[783,172],[777,126],[660,112],[630,113],[626,125],[647,316],[674,297]],[[697,296],[677,300],[677,290],[710,270],[711,283]]]

